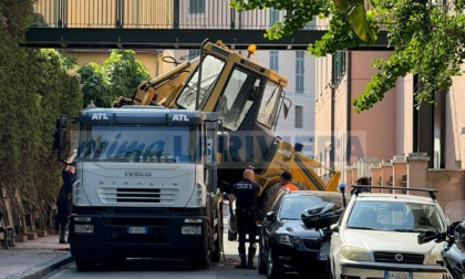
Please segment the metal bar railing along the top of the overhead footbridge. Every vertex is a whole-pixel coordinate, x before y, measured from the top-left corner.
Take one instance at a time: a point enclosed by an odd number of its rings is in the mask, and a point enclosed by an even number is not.
[[[238,12],[226,0],[37,0],[49,28],[265,30],[288,11]],[[308,24],[308,30],[328,30]]]

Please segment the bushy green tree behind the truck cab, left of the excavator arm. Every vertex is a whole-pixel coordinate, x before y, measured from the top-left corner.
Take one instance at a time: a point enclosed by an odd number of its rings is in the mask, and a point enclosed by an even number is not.
[[[103,65],[90,62],[79,73],[84,105],[93,101],[101,107],[111,106],[116,97],[130,95],[142,82],[151,80],[149,72],[135,60],[132,50],[113,50]]]

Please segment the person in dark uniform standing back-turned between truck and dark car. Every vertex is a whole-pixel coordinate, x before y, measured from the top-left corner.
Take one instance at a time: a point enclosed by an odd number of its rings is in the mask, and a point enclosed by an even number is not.
[[[229,195],[229,209],[234,215],[232,204],[236,200],[237,232],[239,235],[240,264],[236,268],[255,268],[254,257],[257,251],[255,239],[257,235],[258,194],[260,185],[255,182],[254,169],[246,169],[242,179],[232,185]],[[246,262],[246,235],[249,235],[249,250]]]

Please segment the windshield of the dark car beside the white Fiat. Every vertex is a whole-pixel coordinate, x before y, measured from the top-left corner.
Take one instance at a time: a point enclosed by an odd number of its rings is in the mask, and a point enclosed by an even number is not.
[[[318,196],[287,197],[282,200],[279,218],[300,220],[302,211],[306,208],[321,203],[323,203],[323,200]]]

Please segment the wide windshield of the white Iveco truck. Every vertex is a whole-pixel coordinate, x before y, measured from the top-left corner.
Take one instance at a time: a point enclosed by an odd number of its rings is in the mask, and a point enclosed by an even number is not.
[[[199,132],[193,126],[83,124],[78,156],[83,161],[196,163]]]

